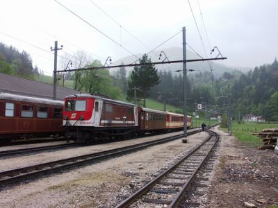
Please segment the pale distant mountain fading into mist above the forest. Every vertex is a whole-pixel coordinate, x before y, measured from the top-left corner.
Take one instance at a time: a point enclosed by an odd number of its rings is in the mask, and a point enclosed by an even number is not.
[[[161,51],[154,51],[154,53],[149,53],[148,58],[151,58],[152,62],[161,62],[161,61],[173,61],[173,60],[182,60],[183,59],[183,54],[182,54],[182,49],[179,47],[171,47],[167,49],[162,50],[164,53],[161,53]],[[159,55],[161,54],[161,60],[159,60]],[[165,55],[167,56],[165,56]],[[143,53],[138,53],[136,56],[142,57],[144,55]],[[191,52],[191,51],[186,51],[186,58],[189,59],[200,59],[200,57]],[[133,55],[126,56],[120,60],[117,60],[113,62],[113,65],[119,65],[122,64],[131,64],[134,61],[136,61],[136,58]],[[220,61],[213,61],[210,62],[211,67],[213,69],[213,76],[215,78],[219,78],[222,76],[224,72],[231,72],[234,71],[236,68],[234,67],[226,67],[224,64],[221,64]],[[156,69],[158,71],[177,71],[183,69],[183,64],[182,63],[177,63],[177,64],[156,64]],[[187,62],[187,69],[194,69],[195,71],[190,72],[190,73],[198,73],[201,71],[211,71],[208,62],[207,61],[200,61],[200,62]],[[251,68],[250,68],[251,69]],[[126,74],[129,74],[133,70],[133,67],[126,67]],[[248,70],[249,71],[249,70]],[[112,71],[111,71],[112,72]],[[246,72],[246,71],[245,71]],[[174,75],[174,74],[173,74]],[[177,73],[178,75],[178,73]]]

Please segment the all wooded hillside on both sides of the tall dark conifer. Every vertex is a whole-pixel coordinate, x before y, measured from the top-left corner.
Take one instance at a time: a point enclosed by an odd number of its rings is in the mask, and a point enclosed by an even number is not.
[[[99,67],[99,60],[92,60],[84,52],[76,53],[80,62],[74,69],[81,67]],[[123,63],[122,63],[123,64]],[[155,66],[154,66],[155,69]],[[157,71],[157,70],[155,70]],[[34,79],[39,76],[38,67],[33,67],[31,56],[26,51],[19,52],[12,46],[0,43],[0,72],[13,76]],[[157,71],[158,85],[151,87],[145,96],[161,103],[183,107],[183,73]],[[211,71],[187,73],[186,94],[188,112],[195,112],[197,103],[202,104],[199,114],[227,114],[230,104],[233,119],[242,119],[245,114],[262,115],[267,121],[278,121],[278,62],[263,64],[250,70],[224,72],[220,78],[214,78]],[[106,95],[114,99],[123,99],[129,92],[131,74],[124,67],[110,73],[108,69],[76,71],[67,73],[64,78],[72,81],[72,88]],[[138,92],[140,99],[142,93]],[[141,97],[142,98],[142,97]],[[139,102],[140,103],[140,102]]]

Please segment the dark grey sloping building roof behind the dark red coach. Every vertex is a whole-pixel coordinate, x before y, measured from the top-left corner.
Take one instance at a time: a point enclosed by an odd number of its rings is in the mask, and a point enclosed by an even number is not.
[[[0,92],[52,99],[54,87],[47,83],[0,73]],[[80,93],[81,92],[75,89],[57,86],[56,99],[62,101],[65,96]]]

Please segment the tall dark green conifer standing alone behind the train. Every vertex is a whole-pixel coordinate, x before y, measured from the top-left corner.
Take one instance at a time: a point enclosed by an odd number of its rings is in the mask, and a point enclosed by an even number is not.
[[[147,55],[143,55],[140,59],[140,66],[134,67],[131,72],[131,80],[129,81],[129,89],[127,90],[128,101],[133,100],[134,87],[138,87],[138,98],[143,98],[143,106],[146,106],[146,98],[148,96],[149,89],[160,83],[160,78],[157,74],[157,69],[154,64],[151,64],[151,59],[147,58]]]

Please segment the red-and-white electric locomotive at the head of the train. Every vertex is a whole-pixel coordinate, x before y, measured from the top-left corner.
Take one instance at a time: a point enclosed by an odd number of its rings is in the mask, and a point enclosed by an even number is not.
[[[63,125],[77,142],[128,135],[138,128],[137,106],[88,94],[67,96]]]

